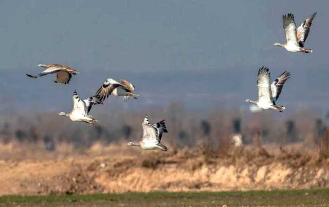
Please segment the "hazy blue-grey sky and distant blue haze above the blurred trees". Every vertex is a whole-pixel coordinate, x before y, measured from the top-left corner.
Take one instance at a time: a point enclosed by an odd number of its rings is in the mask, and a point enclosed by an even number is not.
[[[329,1],[0,1],[0,104],[70,109],[73,90],[92,95],[112,77],[131,80],[144,95],[130,106],[177,99],[240,106],[255,98],[255,73],[264,65],[273,76],[292,73],[281,104],[315,97],[325,107],[328,8]],[[305,44],[313,53],[272,45],[285,41],[282,15],[289,12],[298,26],[318,12]],[[81,73],[66,86],[53,76],[27,78],[40,72],[39,62]]]

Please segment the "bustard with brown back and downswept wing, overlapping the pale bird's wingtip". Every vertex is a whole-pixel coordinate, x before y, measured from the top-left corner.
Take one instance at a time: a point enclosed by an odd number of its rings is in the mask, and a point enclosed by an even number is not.
[[[107,79],[98,89],[96,95],[100,96],[101,100],[105,100],[109,95],[122,96],[124,101],[127,99],[137,99],[139,95],[134,93],[135,86],[130,82],[121,79],[121,83],[114,79]]]

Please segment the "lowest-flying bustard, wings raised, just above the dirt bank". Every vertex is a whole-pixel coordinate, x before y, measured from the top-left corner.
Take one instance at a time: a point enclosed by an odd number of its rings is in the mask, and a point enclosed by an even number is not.
[[[168,133],[165,120],[151,125],[148,116],[145,115],[142,127],[142,139],[139,142],[128,142],[127,145],[140,146],[142,149],[160,149],[168,151],[168,148],[160,143],[162,133]]]

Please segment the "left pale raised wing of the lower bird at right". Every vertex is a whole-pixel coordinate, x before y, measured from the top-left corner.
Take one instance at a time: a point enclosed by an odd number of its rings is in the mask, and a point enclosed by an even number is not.
[[[272,103],[272,91],[270,84],[270,72],[268,68],[261,67],[257,76],[258,100],[260,102]]]

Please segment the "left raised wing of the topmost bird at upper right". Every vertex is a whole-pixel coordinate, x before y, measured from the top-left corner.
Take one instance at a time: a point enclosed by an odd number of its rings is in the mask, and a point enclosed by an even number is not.
[[[294,14],[289,13],[287,15],[283,15],[282,21],[283,29],[286,34],[286,44],[294,44],[298,46]]]

